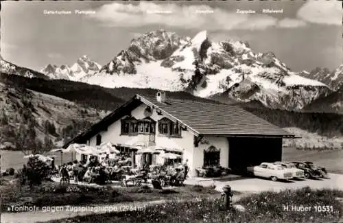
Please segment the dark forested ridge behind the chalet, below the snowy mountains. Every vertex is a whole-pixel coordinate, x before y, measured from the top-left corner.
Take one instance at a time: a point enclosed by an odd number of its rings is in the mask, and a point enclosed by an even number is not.
[[[125,103],[135,94],[154,95],[156,89],[108,89],[102,86],[73,82],[69,80],[45,80],[42,78],[24,78],[19,75],[0,73],[0,82],[11,86],[21,86],[26,89],[38,91],[67,99],[71,102],[83,104],[100,110],[114,110]],[[202,102],[213,102],[211,99],[196,97],[186,92],[169,92],[168,95],[176,98],[196,99]],[[216,103],[216,102],[213,102]]]

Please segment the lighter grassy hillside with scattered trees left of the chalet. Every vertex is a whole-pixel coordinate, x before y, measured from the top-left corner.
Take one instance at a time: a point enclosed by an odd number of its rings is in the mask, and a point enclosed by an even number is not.
[[[53,95],[0,83],[0,148],[43,150],[85,130],[106,113]]]

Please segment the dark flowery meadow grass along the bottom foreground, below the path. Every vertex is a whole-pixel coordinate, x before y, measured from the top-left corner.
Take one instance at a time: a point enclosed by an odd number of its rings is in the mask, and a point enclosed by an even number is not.
[[[144,211],[126,211],[123,213],[104,213],[80,216],[49,223],[128,223],[128,222],[334,222],[340,218],[341,204],[337,197],[343,191],[309,187],[280,192],[263,192],[252,194],[239,200],[238,204],[246,211],[225,210],[218,198],[197,198],[196,201],[167,202],[147,207]],[[283,204],[314,207],[332,206],[332,211],[285,211]]]

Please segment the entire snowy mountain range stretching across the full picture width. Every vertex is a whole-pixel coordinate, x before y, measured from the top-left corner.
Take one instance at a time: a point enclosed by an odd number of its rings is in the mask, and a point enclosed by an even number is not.
[[[255,52],[244,41],[216,43],[206,31],[193,38],[165,30],[147,32],[132,39],[104,66],[82,56],[71,67],[48,64],[41,73],[29,69],[23,72],[23,68],[5,60],[0,67],[1,71],[25,77],[73,80],[108,88],[185,91],[236,104],[343,113],[343,64],[332,72],[320,68],[294,72],[271,51]]]

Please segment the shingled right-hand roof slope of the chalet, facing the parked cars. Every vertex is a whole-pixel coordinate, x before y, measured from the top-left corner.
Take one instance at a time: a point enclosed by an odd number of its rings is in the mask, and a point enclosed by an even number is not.
[[[137,96],[143,103],[159,108],[197,134],[293,137],[239,106],[171,98],[161,104],[156,97]]]

